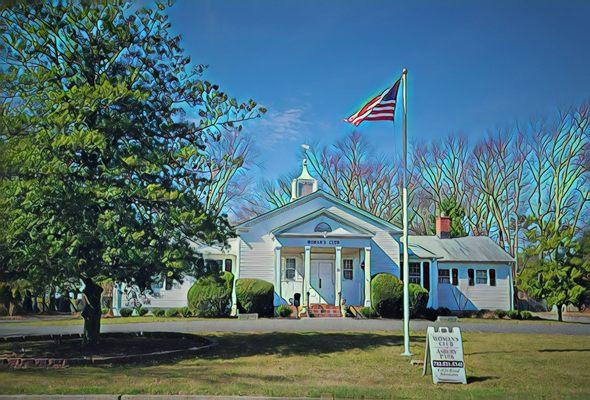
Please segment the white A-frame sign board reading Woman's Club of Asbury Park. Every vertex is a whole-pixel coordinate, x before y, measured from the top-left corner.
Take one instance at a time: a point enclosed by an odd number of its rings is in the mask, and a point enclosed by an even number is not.
[[[465,361],[463,360],[463,340],[458,327],[440,327],[438,330],[432,326],[428,327],[422,375],[426,374],[429,364],[434,383],[467,384]]]

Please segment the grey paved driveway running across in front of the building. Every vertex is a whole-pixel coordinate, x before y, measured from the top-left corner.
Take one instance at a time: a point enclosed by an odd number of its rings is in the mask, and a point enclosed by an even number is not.
[[[425,332],[433,322],[416,320],[411,329]],[[532,333],[590,335],[590,324],[561,323],[544,321],[462,321],[457,324],[463,331],[496,333]],[[260,319],[256,321],[196,320],[179,322],[148,322],[129,324],[103,324],[102,332],[295,332],[295,331],[382,331],[402,329],[400,320],[355,320],[352,318],[312,318],[302,320]],[[0,323],[0,336],[44,335],[59,333],[81,333],[80,325],[71,326],[30,326],[22,323]]]

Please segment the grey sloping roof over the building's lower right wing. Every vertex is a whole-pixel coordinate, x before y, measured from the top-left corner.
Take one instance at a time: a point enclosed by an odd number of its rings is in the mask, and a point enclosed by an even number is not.
[[[514,258],[487,236],[441,239],[438,236],[409,236],[409,250],[418,257],[436,254],[441,262],[514,262]]]

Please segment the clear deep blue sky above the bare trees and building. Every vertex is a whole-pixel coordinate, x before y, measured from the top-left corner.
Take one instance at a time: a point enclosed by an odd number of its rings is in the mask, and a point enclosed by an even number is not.
[[[409,135],[476,140],[590,98],[590,1],[188,1],[174,30],[207,78],[268,114],[261,170],[297,167],[300,144],[333,143],[370,95],[409,70]],[[359,130],[399,156],[399,118]]]

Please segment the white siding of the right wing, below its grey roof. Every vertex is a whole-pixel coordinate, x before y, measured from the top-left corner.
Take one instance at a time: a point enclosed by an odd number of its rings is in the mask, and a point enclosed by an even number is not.
[[[510,266],[507,264],[446,263],[439,262],[438,269],[458,269],[459,285],[438,283],[438,307],[451,310],[509,310],[510,309]],[[487,284],[469,286],[468,270],[496,270],[496,286]],[[438,273],[436,275],[438,280]],[[452,274],[451,274],[452,279]]]

